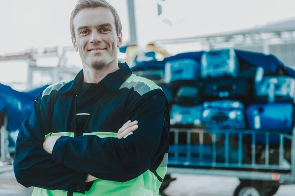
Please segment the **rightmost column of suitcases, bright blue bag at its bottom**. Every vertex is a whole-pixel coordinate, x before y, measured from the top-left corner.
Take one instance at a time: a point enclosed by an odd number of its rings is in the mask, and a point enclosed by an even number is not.
[[[265,76],[255,81],[255,103],[246,110],[249,128],[267,130],[269,144],[278,145],[276,133],[291,134],[294,127],[295,79],[290,76]],[[266,143],[266,137],[256,135],[257,143]]]

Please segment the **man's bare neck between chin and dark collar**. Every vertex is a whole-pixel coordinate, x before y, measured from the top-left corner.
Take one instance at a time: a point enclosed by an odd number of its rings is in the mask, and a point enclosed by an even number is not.
[[[106,67],[103,67],[102,69],[91,68],[83,63],[84,81],[86,83],[98,83],[107,74],[116,72],[118,69],[118,63],[108,65]]]

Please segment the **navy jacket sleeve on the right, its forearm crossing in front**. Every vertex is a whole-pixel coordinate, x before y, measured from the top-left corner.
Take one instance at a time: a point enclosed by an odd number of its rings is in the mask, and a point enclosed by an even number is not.
[[[164,122],[165,109],[169,108],[166,108],[166,98],[161,90],[148,92],[133,105],[126,121],[137,120],[139,128],[132,135],[125,139],[94,135],[76,138],[62,136],[53,148],[53,160],[74,171],[120,182],[149,170],[152,157],[164,151],[159,150],[160,143],[165,143],[165,146],[169,142],[169,132]]]

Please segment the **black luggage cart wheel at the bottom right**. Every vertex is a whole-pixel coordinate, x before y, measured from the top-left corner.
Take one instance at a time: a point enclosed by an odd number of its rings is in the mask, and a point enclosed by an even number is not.
[[[273,196],[279,189],[279,185],[264,186],[262,181],[239,180],[234,196]]]

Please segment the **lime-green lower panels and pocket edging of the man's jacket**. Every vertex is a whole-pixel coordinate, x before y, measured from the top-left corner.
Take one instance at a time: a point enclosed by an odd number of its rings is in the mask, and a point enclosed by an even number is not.
[[[60,132],[60,133],[49,133],[46,137],[53,135],[64,135],[74,137],[72,132]],[[111,132],[92,132],[84,133],[83,135],[97,135],[100,138],[105,137],[116,137],[117,133]],[[161,163],[161,167],[158,167],[156,173],[164,179],[167,173],[167,161],[168,153],[165,153]],[[157,179],[155,174],[151,171],[146,171],[142,175],[131,179],[127,182],[117,182],[110,180],[94,180],[91,189],[85,192],[85,196],[159,196],[159,189],[162,182]],[[32,196],[67,196],[67,191],[61,190],[46,190],[42,188],[34,188]],[[74,196],[82,195],[74,193]]]

